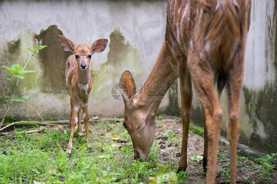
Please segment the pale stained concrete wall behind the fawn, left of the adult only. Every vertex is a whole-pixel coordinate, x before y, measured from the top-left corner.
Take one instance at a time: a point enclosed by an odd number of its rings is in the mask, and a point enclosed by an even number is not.
[[[57,35],[74,43],[92,44],[108,39],[101,54],[92,57],[93,90],[89,99],[90,115],[123,115],[123,102],[111,96],[112,86],[130,70],[136,82],[143,83],[153,67],[164,40],[166,1],[161,0],[6,0],[0,2],[0,65],[24,62],[33,48],[47,45],[30,61],[17,94],[29,96],[28,103],[43,117],[68,118],[69,94],[65,83],[65,62],[71,54],[61,49]],[[0,68],[6,90],[8,72]],[[168,103],[168,102],[165,102]],[[0,115],[5,105],[0,104]],[[24,104],[13,103],[9,115],[33,117]]]

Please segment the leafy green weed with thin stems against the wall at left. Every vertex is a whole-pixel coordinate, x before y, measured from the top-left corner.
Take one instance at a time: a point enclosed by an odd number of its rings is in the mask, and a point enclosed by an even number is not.
[[[6,107],[7,107],[7,110],[2,118],[2,121],[0,123],[0,128],[2,127],[3,123],[4,123],[4,120],[5,118],[7,117],[8,115],[8,112],[9,112],[9,109],[10,109],[10,106],[11,106],[11,103],[12,101],[19,101],[19,102],[25,102],[24,99],[28,99],[28,96],[16,96],[16,89],[18,87],[18,83],[19,83],[19,79],[24,79],[24,76],[22,76],[23,74],[27,74],[27,73],[32,73],[32,72],[35,72],[33,70],[25,70],[28,62],[31,60],[31,58],[35,55],[35,53],[38,53],[39,50],[43,49],[47,47],[46,45],[38,45],[38,46],[35,46],[34,47],[34,50],[32,50],[30,47],[26,47],[26,46],[22,46],[22,48],[26,48],[28,50],[30,50],[32,52],[31,56],[29,57],[28,61],[25,63],[25,65],[22,67],[20,64],[12,64],[10,67],[8,66],[2,66],[3,68],[7,69],[10,73],[11,73],[11,76],[6,76],[5,78],[7,80],[10,80],[12,81],[12,84],[14,86],[14,89],[13,89],[13,93],[11,95],[7,95],[4,91],[5,89],[5,83],[3,81],[0,80],[0,82],[2,83],[3,85],[3,96],[0,96],[0,98],[4,99],[4,103],[6,104]],[[30,106],[30,105],[29,105]]]

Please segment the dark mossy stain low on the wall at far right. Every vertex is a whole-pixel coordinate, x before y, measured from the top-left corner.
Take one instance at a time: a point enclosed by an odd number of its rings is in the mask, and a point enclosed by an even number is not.
[[[253,127],[248,145],[256,148],[262,148],[263,144],[268,143],[270,148],[263,148],[268,152],[277,152],[277,86],[266,84],[264,89],[258,92],[242,88],[245,98],[245,113],[249,116],[249,123]],[[262,139],[258,135],[258,124],[260,121],[266,130],[267,139]],[[244,143],[246,144],[246,143]],[[266,144],[267,145],[267,144]]]

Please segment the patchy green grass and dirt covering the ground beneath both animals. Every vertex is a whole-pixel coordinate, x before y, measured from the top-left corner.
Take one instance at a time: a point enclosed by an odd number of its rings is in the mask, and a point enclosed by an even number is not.
[[[175,122],[171,124],[176,125]],[[157,121],[157,128],[163,125]],[[75,132],[70,156],[67,154],[70,132],[58,126],[33,134],[20,133],[28,130],[23,126],[16,129],[13,136],[0,137],[0,184],[148,184],[149,177],[156,176],[165,168],[169,167],[173,172],[177,169],[179,157],[174,155],[181,146],[180,141],[176,141],[181,136],[178,132],[164,127],[161,138],[153,141],[147,162],[141,163],[134,160],[131,137],[122,122],[94,121],[90,122],[90,128],[90,144],[85,143],[85,137],[78,137]],[[192,133],[190,131],[189,136]],[[120,139],[113,141],[113,137]],[[196,142],[200,139],[197,138]],[[161,140],[174,147],[174,154],[166,162],[161,159]],[[245,156],[238,156],[238,176],[245,181],[248,178],[253,181],[253,173],[249,172],[254,171],[257,183],[274,183],[276,177],[273,177],[275,173],[271,170],[276,169],[276,165],[270,160],[276,157],[277,154],[271,154],[256,159],[259,164]],[[196,169],[180,172],[177,175],[178,184],[205,183],[201,159],[201,154],[188,157],[188,166]],[[218,153],[217,180],[228,180],[229,172],[229,153],[221,149]]]

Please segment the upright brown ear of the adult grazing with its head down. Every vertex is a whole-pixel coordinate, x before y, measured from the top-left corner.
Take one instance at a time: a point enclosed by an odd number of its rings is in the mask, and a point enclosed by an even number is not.
[[[136,83],[130,71],[126,70],[120,77],[119,90],[124,102],[130,102],[136,95]]]

